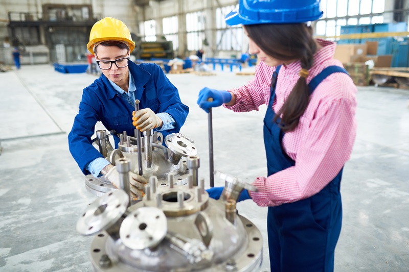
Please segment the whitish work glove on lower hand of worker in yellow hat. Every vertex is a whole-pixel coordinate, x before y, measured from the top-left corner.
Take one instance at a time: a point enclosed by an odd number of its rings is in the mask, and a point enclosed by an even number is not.
[[[105,179],[110,181],[113,186],[120,188],[119,183],[119,172],[117,171],[117,166],[113,166],[105,175]],[[145,195],[145,187],[148,181],[138,175],[129,171],[129,183],[132,200],[142,200],[142,197]]]

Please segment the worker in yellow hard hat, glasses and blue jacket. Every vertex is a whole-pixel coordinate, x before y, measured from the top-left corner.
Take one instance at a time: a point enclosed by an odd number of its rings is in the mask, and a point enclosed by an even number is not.
[[[119,183],[118,172],[91,142],[97,121],[109,131],[126,131],[129,136],[134,136],[137,127],[141,132],[155,129],[166,137],[179,132],[189,112],[161,67],[151,63],[137,65],[129,60],[134,47],[122,21],[106,17],[94,24],[87,48],[95,55],[102,75],[83,90],[68,136],[70,152],[82,172],[94,177],[106,175],[114,185]],[[136,114],[135,100],[140,100],[141,109]],[[119,137],[113,138],[117,147]],[[135,177],[138,179],[138,175],[132,175]]]

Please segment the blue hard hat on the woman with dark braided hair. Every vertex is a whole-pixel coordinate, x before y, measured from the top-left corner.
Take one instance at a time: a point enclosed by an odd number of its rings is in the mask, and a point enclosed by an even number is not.
[[[321,0],[239,0],[239,9],[226,15],[226,23],[300,23],[319,19]]]

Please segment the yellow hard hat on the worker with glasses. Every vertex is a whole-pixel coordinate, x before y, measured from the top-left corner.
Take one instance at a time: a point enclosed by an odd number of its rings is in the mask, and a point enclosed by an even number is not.
[[[127,43],[130,52],[135,48],[129,29],[123,21],[111,17],[105,17],[97,21],[89,33],[89,42],[86,45],[88,51],[94,54],[94,46],[103,41],[122,41]]]

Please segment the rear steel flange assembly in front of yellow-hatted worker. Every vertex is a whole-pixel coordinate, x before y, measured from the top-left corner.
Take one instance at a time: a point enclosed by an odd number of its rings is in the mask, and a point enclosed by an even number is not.
[[[124,132],[119,134],[118,149],[114,150],[109,142],[109,136],[113,133],[115,131],[108,134],[105,130],[97,131],[97,138],[93,139],[93,142],[98,145],[100,153],[112,165],[116,165],[116,160],[119,158],[128,158],[133,172],[138,173],[147,180],[153,175],[156,176],[159,181],[158,186],[168,186],[169,174],[172,174],[175,184],[186,184],[189,169],[196,171],[198,167],[195,166],[197,165],[195,162],[196,147],[193,141],[183,134],[167,135],[165,144],[168,147],[165,147],[162,145],[164,140],[162,133],[146,131],[144,136],[140,137],[141,144],[138,145],[137,138],[127,136],[126,132]],[[139,132],[135,130],[135,135],[138,134]],[[140,155],[138,146],[141,146]],[[139,159],[139,156],[141,159]],[[111,190],[118,190],[104,176],[95,178],[93,175],[85,176],[85,188],[96,196],[101,196]]]

